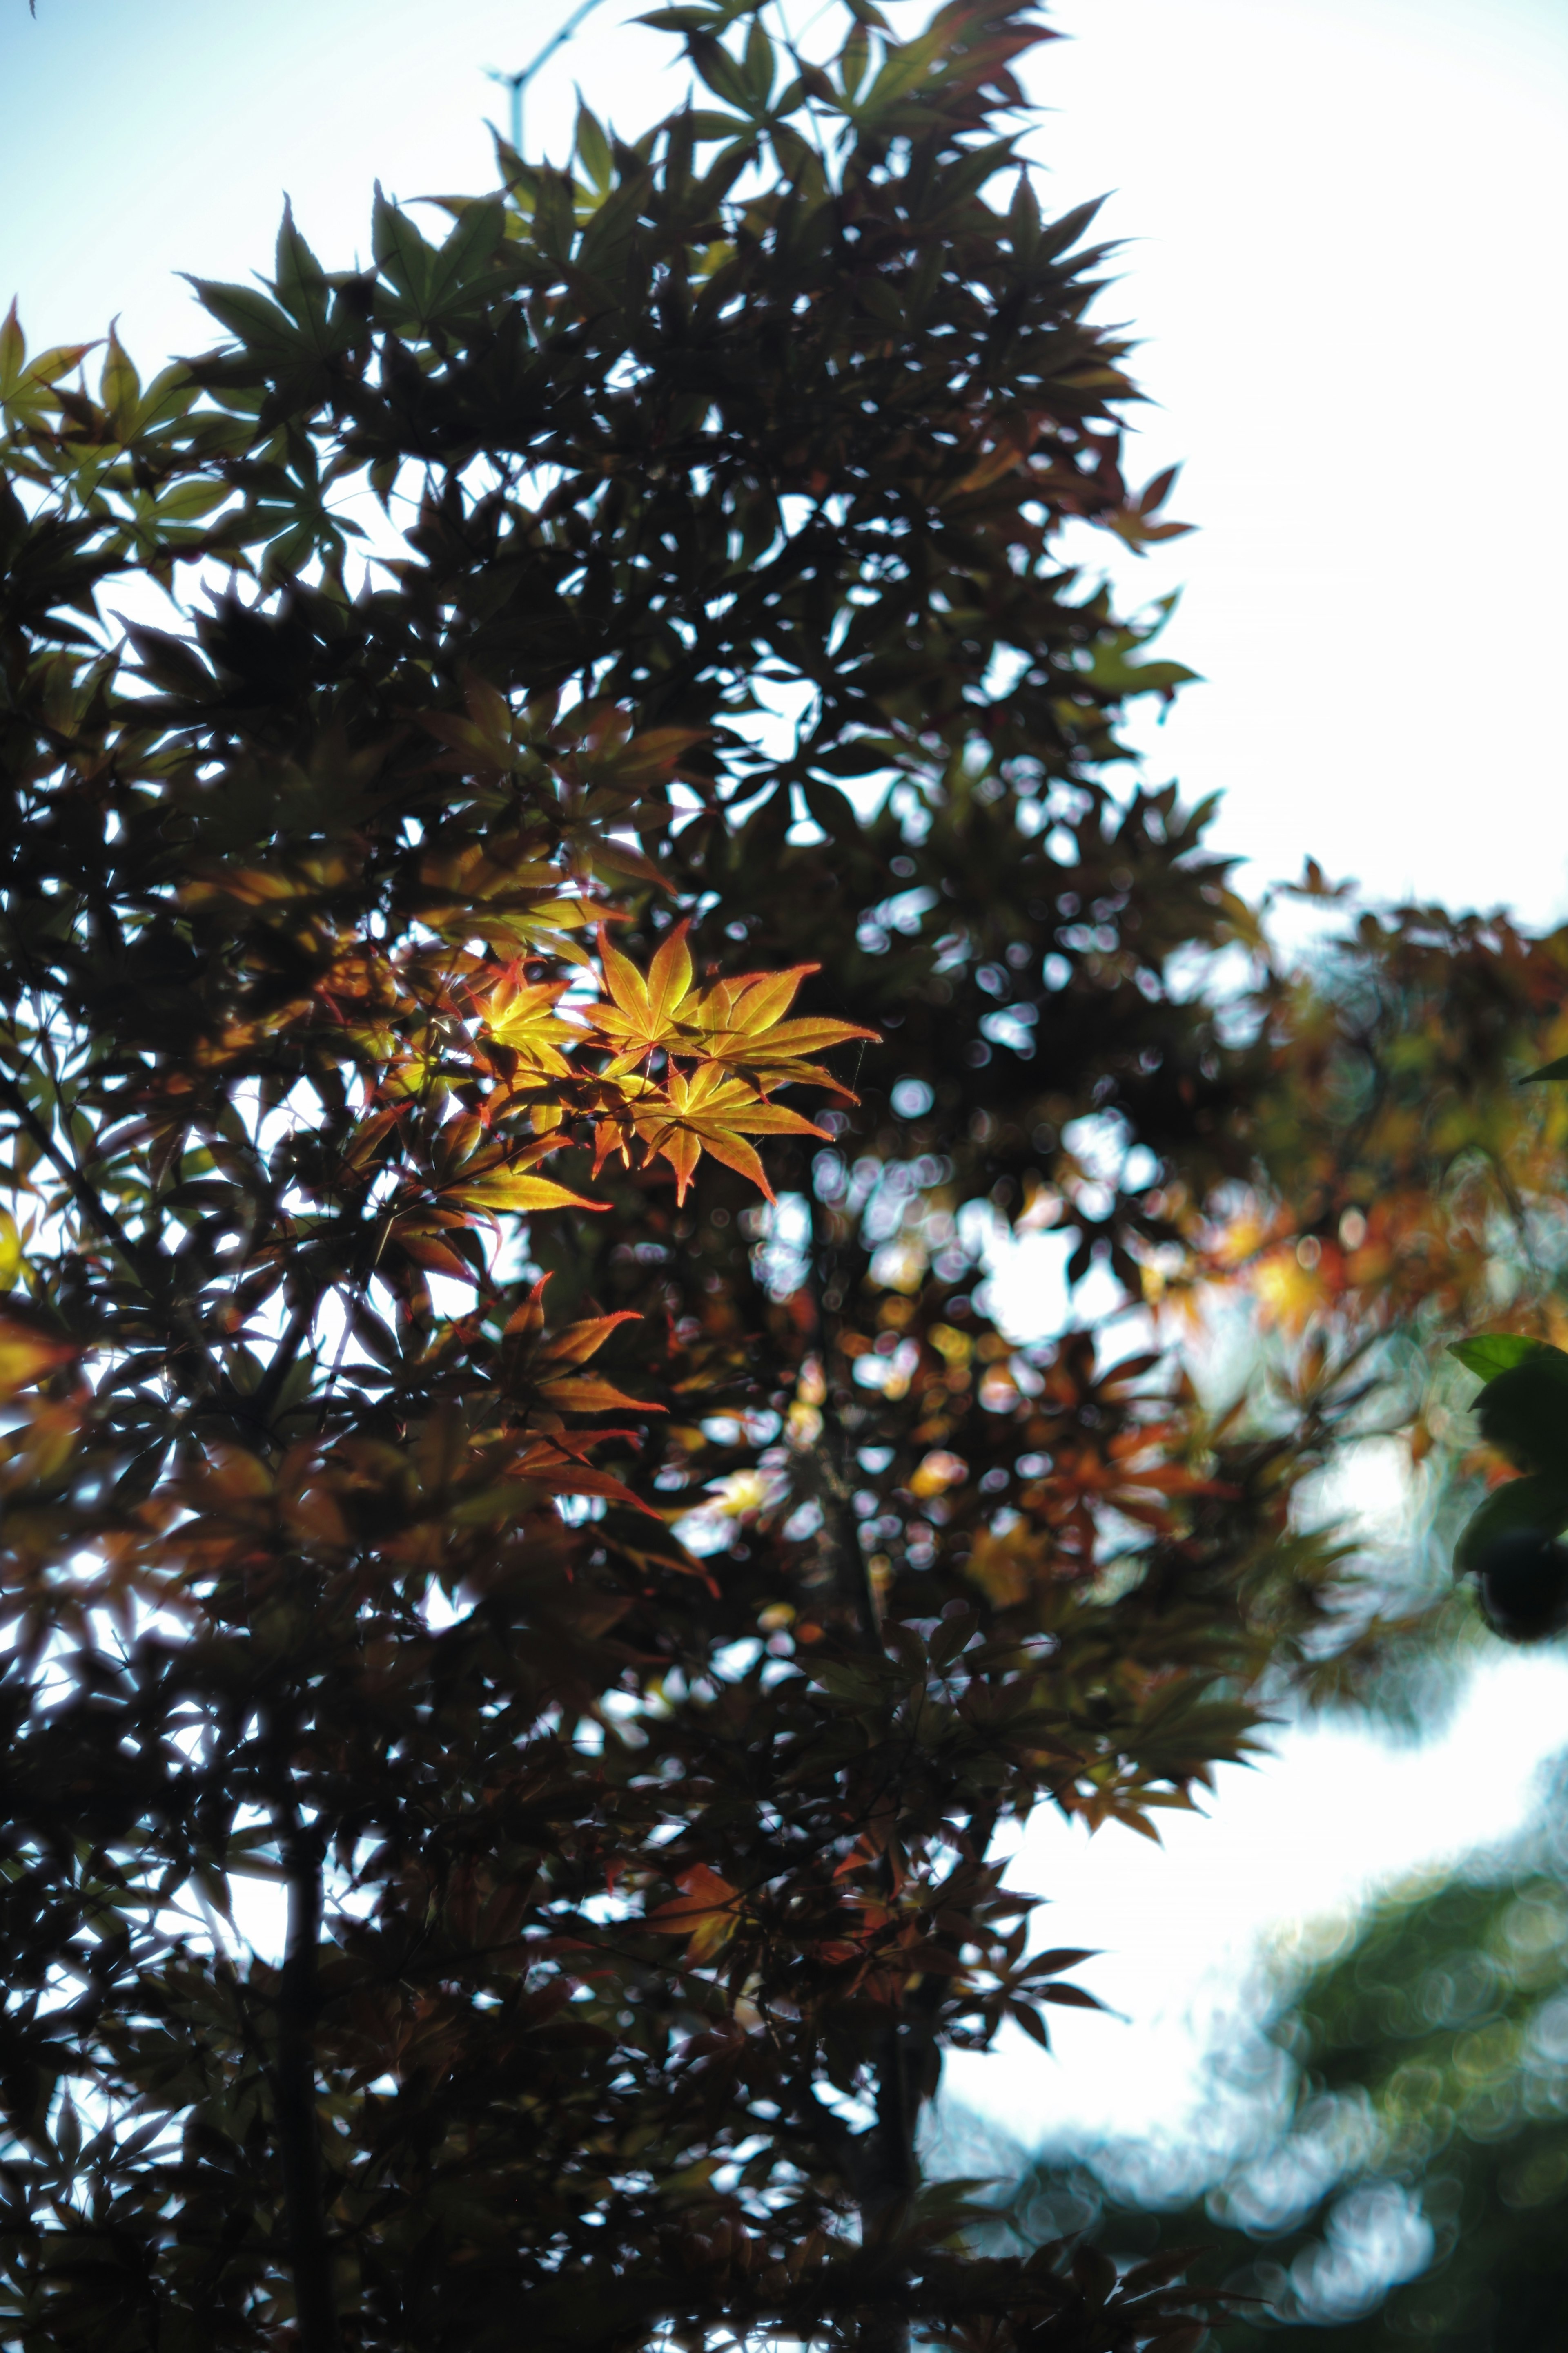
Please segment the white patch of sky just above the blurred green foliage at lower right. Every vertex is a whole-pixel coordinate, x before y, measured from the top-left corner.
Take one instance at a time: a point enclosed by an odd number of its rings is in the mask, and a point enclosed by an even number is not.
[[[1241,2035],[1244,1986],[1326,1958],[1378,1889],[1441,1873],[1523,1831],[1542,1760],[1563,1746],[1568,1657],[1493,1652],[1425,1741],[1333,1718],[1281,1727],[1272,1758],[1222,1765],[1197,1814],[1161,1845],[1088,1838],[1039,1807],[1011,1880],[1048,1897],[1039,1944],[1098,1948],[1077,1972],[1119,2017],[1051,2012],[1056,2054],[1006,2028],[997,2052],[954,2052],[945,2087],[1025,2148],[1140,2141],[1222,2169],[1246,2108],[1208,2066]]]

